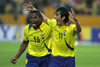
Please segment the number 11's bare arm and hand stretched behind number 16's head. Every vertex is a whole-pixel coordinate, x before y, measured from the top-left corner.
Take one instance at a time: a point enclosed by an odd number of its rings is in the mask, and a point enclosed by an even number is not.
[[[29,2],[29,4],[26,4],[26,3],[24,3],[24,5],[22,5],[22,7],[23,7],[23,9],[25,9],[24,11],[33,11],[33,10],[37,10],[32,4],[31,4],[31,2]],[[42,12],[40,12],[41,13],[41,15],[43,16],[43,21],[45,22],[45,23],[47,23],[47,17],[42,13]]]

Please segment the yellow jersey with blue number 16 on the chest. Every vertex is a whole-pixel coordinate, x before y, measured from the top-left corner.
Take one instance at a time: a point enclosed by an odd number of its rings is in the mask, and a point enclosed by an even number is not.
[[[28,53],[32,56],[42,57],[50,54],[51,27],[42,22],[39,28],[34,29],[32,24],[24,28],[24,40],[29,40]]]

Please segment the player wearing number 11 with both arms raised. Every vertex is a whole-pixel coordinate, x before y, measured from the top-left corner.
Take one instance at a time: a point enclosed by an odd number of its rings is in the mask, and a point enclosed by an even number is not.
[[[26,10],[37,10],[31,2],[24,3]],[[81,25],[71,8],[69,12],[65,7],[59,7],[55,12],[55,19],[48,19],[43,13],[43,21],[53,29],[54,43],[49,67],[75,67],[75,37],[81,32]],[[69,15],[74,20],[69,19]],[[73,23],[75,24],[68,24]]]

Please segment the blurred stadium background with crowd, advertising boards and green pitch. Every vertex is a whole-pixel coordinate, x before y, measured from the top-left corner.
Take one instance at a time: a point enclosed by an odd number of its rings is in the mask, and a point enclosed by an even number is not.
[[[32,4],[50,19],[58,7],[75,9],[82,32],[76,46],[76,67],[100,67],[100,0],[0,0],[0,67],[24,67],[25,54],[16,65],[10,63],[23,40],[29,11],[23,3]]]

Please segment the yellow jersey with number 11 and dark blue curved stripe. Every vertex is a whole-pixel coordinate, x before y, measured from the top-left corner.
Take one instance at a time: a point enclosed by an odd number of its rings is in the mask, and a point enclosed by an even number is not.
[[[53,56],[74,57],[76,53],[74,33],[75,24],[70,26],[58,26],[55,19],[47,19],[47,23],[53,29],[54,43],[52,46]]]

